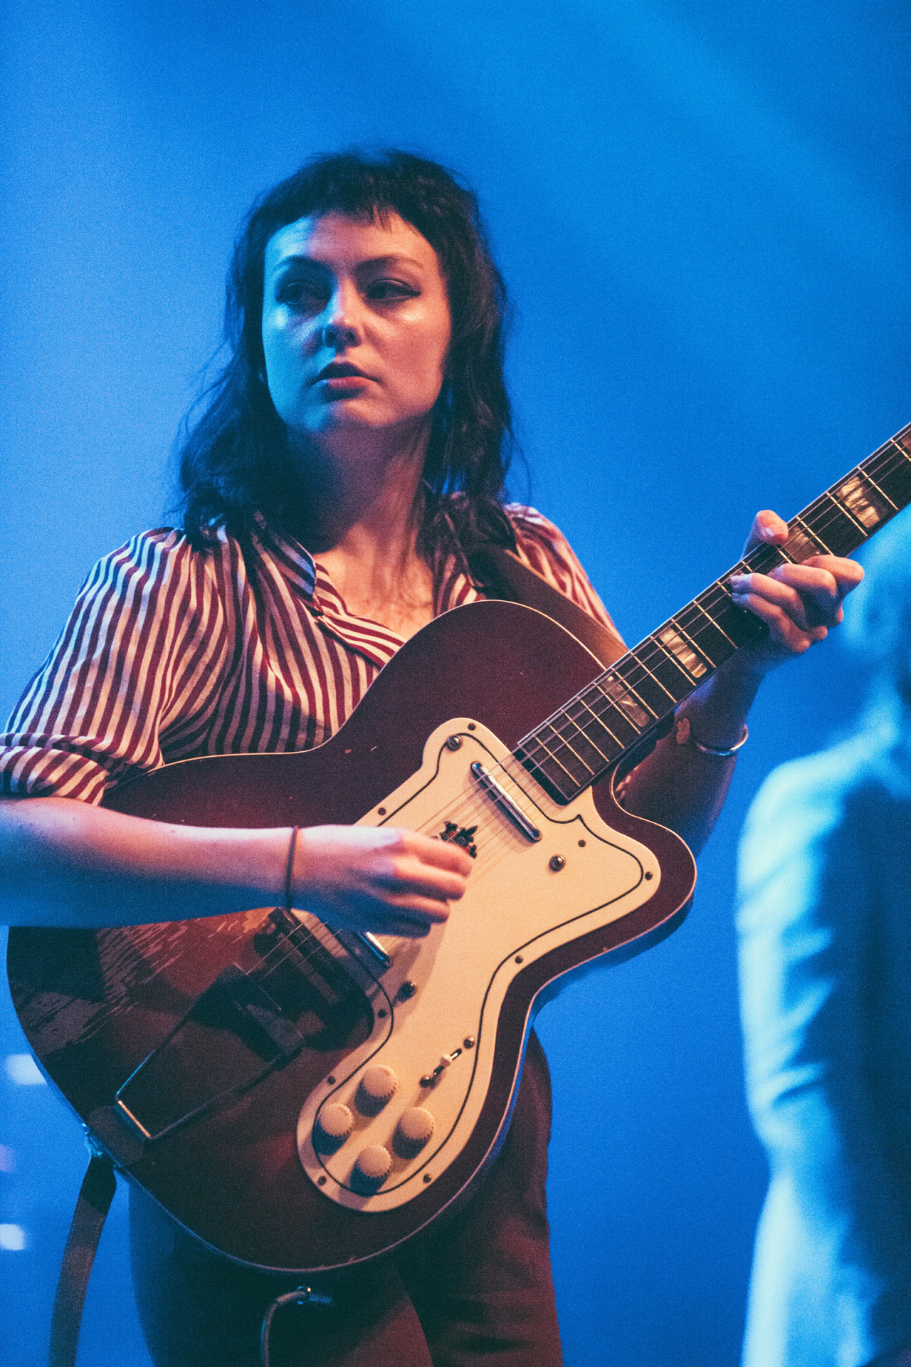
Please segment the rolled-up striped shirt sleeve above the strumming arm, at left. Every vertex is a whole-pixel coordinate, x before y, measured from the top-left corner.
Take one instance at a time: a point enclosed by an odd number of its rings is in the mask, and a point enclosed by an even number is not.
[[[225,649],[208,560],[164,529],[96,565],[0,735],[0,793],[100,802],[172,757],[169,729],[205,725]]]

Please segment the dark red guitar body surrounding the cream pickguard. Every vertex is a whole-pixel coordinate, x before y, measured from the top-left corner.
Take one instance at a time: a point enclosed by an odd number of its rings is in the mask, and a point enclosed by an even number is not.
[[[122,785],[105,805],[194,826],[354,823],[421,768],[428,737],[447,719],[474,718],[511,750],[600,673],[594,656],[549,618],[511,603],[470,604],[408,641],[318,749],[172,764]],[[213,980],[231,964],[254,968],[269,951],[268,910],[187,919],[191,908],[175,904],[175,919],[165,924],[11,931],[10,987],[29,1043],[120,1169],[206,1244],[249,1264],[296,1273],[373,1258],[455,1208],[492,1162],[505,1136],[530,1021],[548,987],[605,953],[638,953],[688,909],[695,869],[683,841],[624,812],[612,772],[593,791],[606,826],[653,852],[656,890],[606,925],[585,928],[583,921],[580,934],[516,972],[496,1020],[493,1066],[470,1140],[396,1208],[352,1210],[326,1199],[306,1176],[295,1140],[303,1100],[344,1068],[372,1028],[374,1007],[358,992],[329,1007],[325,994],[307,1001],[305,984],[295,998],[299,1014],[317,1017],[306,1046],[161,1137],[142,1144],[124,1132],[122,1141],[108,1124],[117,1089]],[[204,1016],[187,1040],[182,1085],[188,1092],[220,1070],[229,1077],[238,1051],[253,1057],[260,1048]],[[258,1057],[268,1061],[269,1050]]]

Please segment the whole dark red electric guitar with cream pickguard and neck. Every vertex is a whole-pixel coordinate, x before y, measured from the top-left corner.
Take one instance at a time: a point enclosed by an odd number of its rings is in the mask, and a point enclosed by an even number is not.
[[[404,826],[474,868],[419,940],[179,904],[164,924],[12,930],[12,1001],[49,1080],[131,1181],[246,1264],[348,1266],[453,1210],[505,1137],[537,1009],[686,916],[690,850],[623,811],[615,779],[762,630],[729,574],[848,555],[910,502],[911,425],[606,668],[549,617],[485,600],[407,641],[325,745],[108,793],[199,826]]]

